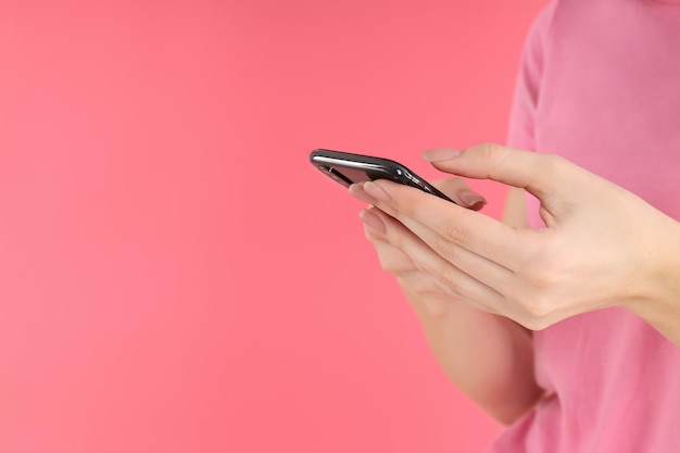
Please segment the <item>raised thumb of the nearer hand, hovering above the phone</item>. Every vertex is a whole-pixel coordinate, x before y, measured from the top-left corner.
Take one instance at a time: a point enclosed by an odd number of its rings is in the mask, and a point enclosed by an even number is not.
[[[423,154],[441,172],[476,179],[491,179],[526,189],[536,197],[563,194],[572,187],[576,165],[553,154],[521,151],[495,143],[466,150],[437,148]],[[571,181],[571,183],[569,183]]]

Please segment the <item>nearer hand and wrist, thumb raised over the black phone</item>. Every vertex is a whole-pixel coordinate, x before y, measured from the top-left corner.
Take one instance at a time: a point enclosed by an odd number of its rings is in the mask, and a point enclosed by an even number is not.
[[[530,329],[621,305],[680,342],[676,221],[555,155],[483,144],[425,158],[446,173],[526,189],[540,201],[545,228],[513,228],[379,180],[363,186],[382,211],[367,222],[373,241],[399,249],[449,294]]]

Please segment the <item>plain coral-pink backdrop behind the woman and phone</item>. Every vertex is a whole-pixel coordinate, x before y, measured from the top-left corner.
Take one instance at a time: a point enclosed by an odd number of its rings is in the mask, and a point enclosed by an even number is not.
[[[3,2],[0,451],[481,451],[307,154],[503,141],[543,3]]]

